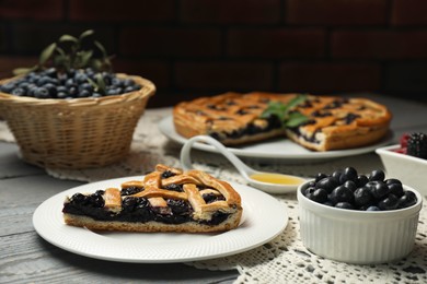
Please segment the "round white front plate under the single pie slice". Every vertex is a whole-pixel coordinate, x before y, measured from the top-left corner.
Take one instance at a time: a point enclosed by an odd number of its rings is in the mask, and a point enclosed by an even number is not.
[[[60,192],[36,209],[34,228],[50,244],[81,256],[120,262],[168,263],[243,252],[272,240],[288,224],[282,203],[259,190],[232,182],[242,198],[243,216],[238,228],[226,233],[94,233],[64,223],[61,210],[66,196],[119,187],[126,180],[140,178],[104,180]]]

